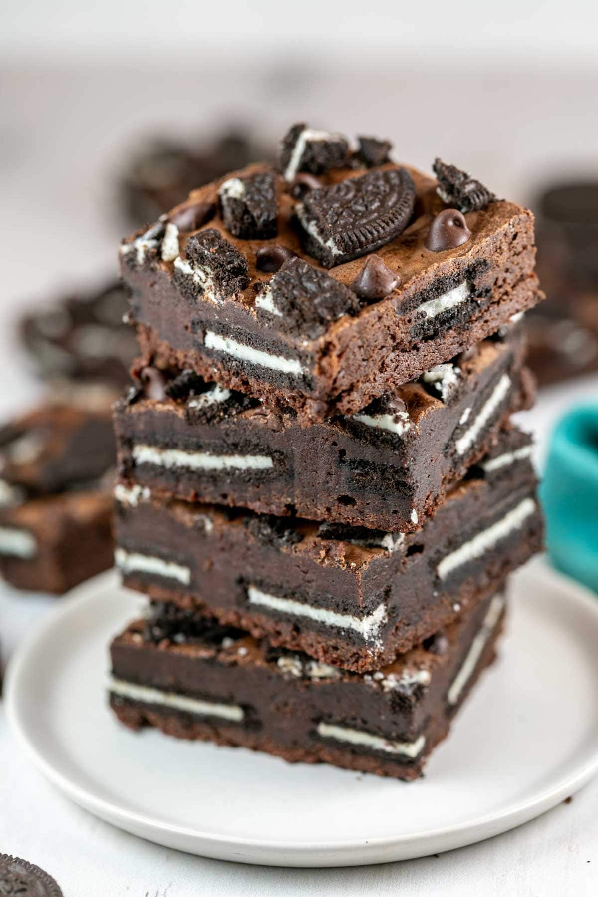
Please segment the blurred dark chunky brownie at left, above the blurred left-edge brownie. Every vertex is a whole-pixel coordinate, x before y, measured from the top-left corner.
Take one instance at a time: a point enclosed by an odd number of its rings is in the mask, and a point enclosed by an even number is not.
[[[134,330],[123,320],[127,310],[126,288],[109,283],[29,311],[21,336],[39,376],[125,386],[136,354]]]

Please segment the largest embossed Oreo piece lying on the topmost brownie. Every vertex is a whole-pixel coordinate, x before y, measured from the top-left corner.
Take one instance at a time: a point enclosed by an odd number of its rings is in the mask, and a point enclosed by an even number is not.
[[[410,222],[414,205],[409,171],[391,169],[312,190],[295,205],[295,214],[306,251],[331,268],[397,237]]]

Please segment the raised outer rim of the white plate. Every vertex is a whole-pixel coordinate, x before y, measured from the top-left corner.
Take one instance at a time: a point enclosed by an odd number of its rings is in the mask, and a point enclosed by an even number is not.
[[[576,580],[552,568],[543,555],[540,558],[535,558],[529,566],[533,566],[534,575],[539,579],[548,578],[552,580],[552,584],[556,580],[562,588],[565,588],[568,601],[575,602],[586,613],[591,614],[598,627],[598,598],[594,596],[594,593]],[[564,775],[556,783],[542,788],[539,793],[524,798],[515,805],[498,812],[486,813],[474,819],[451,823],[436,829],[351,840],[284,842],[238,835],[222,836],[212,832],[201,832],[188,825],[160,822],[150,815],[118,806],[105,797],[98,796],[93,790],[72,781],[64,771],[50,762],[39,747],[39,743],[29,736],[20,710],[22,700],[20,682],[30,669],[30,665],[35,663],[39,643],[47,640],[56,628],[60,629],[65,618],[68,619],[71,614],[76,613],[82,605],[97,600],[98,593],[109,588],[112,583],[122,588],[117,582],[117,571],[114,568],[105,570],[72,589],[67,596],[61,599],[60,605],[56,609],[52,609],[45,615],[35,629],[22,641],[19,649],[8,663],[4,679],[4,705],[13,735],[25,749],[34,766],[54,787],[58,788],[77,806],[82,806],[86,811],[99,816],[104,821],[138,837],[186,850],[186,852],[193,852],[200,856],[236,859],[239,862],[258,865],[289,867],[368,865],[397,858],[427,856],[433,852],[464,847],[493,835],[507,832],[556,806],[561,799],[574,794],[598,773],[597,743],[594,751],[585,750],[584,761],[576,765],[572,773]],[[143,829],[145,833],[140,834],[140,829]],[[195,847],[188,849],[177,846],[173,840],[161,840],[166,835],[185,839],[189,843],[195,844]],[[161,836],[161,838],[156,836]],[[417,845],[418,842],[421,842],[423,849],[420,852],[418,850],[411,851],[410,846]],[[392,854],[393,849],[394,856],[386,856],[388,853]],[[239,850],[254,851],[254,854],[235,857],[235,851]],[[350,854],[350,856],[345,856],[345,854]]]

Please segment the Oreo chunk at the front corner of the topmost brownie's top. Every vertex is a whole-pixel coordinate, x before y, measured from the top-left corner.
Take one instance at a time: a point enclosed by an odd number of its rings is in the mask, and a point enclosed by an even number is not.
[[[332,321],[355,315],[360,308],[349,287],[299,257],[285,262],[256,296],[258,318],[275,319],[283,333],[311,339],[325,333]]]

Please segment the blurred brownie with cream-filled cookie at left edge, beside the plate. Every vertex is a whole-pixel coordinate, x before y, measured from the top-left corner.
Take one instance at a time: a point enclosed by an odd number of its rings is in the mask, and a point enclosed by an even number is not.
[[[61,594],[112,563],[109,404],[42,405],[0,428],[0,572]]]

